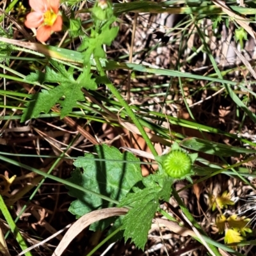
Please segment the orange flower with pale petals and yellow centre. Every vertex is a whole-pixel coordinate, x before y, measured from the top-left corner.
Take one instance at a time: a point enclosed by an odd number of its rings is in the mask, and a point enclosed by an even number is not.
[[[35,12],[28,13],[25,26],[30,29],[38,28],[37,40],[45,42],[52,32],[61,31],[60,0],[29,0],[29,5]]]

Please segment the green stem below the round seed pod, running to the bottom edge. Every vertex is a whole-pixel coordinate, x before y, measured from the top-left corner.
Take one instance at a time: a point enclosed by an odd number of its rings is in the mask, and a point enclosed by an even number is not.
[[[196,222],[196,220],[194,219],[192,214],[188,211],[187,207],[182,202],[179,194],[177,193],[177,191],[176,191],[176,189],[174,188],[173,185],[172,185],[172,195],[175,198],[175,200],[177,201],[177,203],[179,204],[179,207],[182,210],[182,212],[188,218],[188,220],[194,225],[195,228],[197,228],[200,231],[201,234],[203,234],[204,236],[208,237],[207,234],[204,232],[204,230]],[[212,245],[210,243],[207,243],[207,244],[208,244],[209,248],[211,248],[212,252],[215,253],[216,256],[221,256],[220,253],[218,252],[218,249],[214,245]]]

